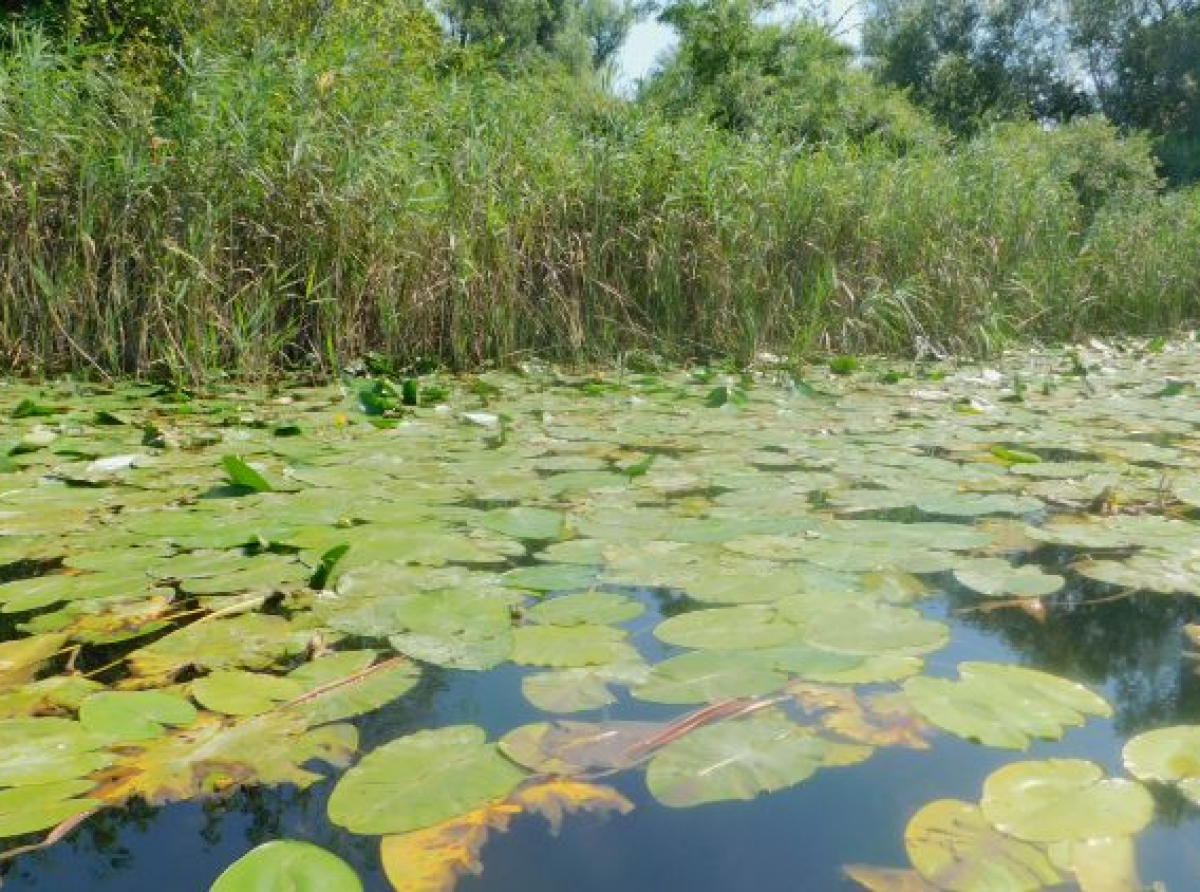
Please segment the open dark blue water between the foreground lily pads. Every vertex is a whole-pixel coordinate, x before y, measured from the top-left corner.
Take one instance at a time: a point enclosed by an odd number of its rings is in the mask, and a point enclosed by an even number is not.
[[[647,597],[644,603],[660,601]],[[950,675],[961,660],[1018,663],[1098,686],[1112,705],[1111,720],[1092,720],[1058,742],[1034,743],[1021,758],[1085,758],[1120,776],[1128,737],[1200,722],[1198,664],[1184,658],[1180,634],[1184,621],[1200,617],[1196,601],[1145,595],[1085,603],[1054,611],[1045,623],[1013,610],[964,615],[948,599],[931,601],[928,610],[953,629],[952,643],[930,658],[930,674]],[[631,625],[641,636],[653,623],[653,616],[643,616]],[[438,671],[400,702],[358,722],[362,749],[422,728],[472,723],[499,736],[544,718],[521,696],[527,671]],[[673,711],[626,699],[611,712],[652,718]],[[641,773],[630,772],[612,783],[636,803],[631,814],[574,815],[557,836],[542,819],[521,816],[486,845],[482,875],[458,888],[858,888],[844,876],[844,864],[906,863],[902,831],[918,808],[941,797],[977,800],[988,773],[1016,755],[942,735],[928,752],[881,748],[865,764],[821,771],[782,792],[690,809],[656,804]],[[204,890],[254,845],[278,838],[322,845],[353,864],[368,890],[390,888],[374,840],[326,820],[331,786],[253,789],[223,803],[102,813],[68,840],[18,858],[5,888]],[[1156,792],[1158,818],[1138,838],[1142,879],[1171,890],[1200,888],[1200,810],[1169,791]]]

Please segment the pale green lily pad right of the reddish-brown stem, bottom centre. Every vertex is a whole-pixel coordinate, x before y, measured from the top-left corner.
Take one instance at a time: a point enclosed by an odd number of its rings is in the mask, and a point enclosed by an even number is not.
[[[785,790],[824,766],[853,765],[869,747],[833,743],[776,716],[709,725],[665,747],[646,784],[664,806],[688,808]]]

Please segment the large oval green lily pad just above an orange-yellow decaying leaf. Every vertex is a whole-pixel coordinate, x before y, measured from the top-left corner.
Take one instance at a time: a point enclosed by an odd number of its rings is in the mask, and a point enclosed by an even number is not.
[[[480,728],[454,725],[379,747],[338,780],[329,819],[352,833],[407,833],[508,795],[524,773],[485,740]]]

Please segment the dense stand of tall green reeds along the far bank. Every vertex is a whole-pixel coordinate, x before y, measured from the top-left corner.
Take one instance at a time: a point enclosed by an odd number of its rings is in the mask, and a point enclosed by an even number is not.
[[[1031,138],[797,151],[371,43],[191,42],[144,83],[14,32],[0,366],[985,352],[1200,316],[1200,192],[1096,199]]]

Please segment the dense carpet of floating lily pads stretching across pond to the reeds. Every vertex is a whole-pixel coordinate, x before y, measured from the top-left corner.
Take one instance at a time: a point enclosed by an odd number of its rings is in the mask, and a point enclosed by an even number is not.
[[[5,384],[0,834],[353,765],[330,818],[406,887],[408,858],[445,881],[431,852],[475,869],[512,814],[628,810],[596,772],[683,808],[943,734],[1058,740],[1109,705],[932,658],[947,605],[1200,595],[1200,411],[1160,387],[1200,363],[1093,360],[1114,372],[541,369],[386,408],[349,381]],[[494,670],[540,720],[419,722],[359,756],[359,717]],[[1152,734],[1130,772],[1194,800],[1194,741]],[[1042,875],[1021,846],[1057,840],[990,801],[925,818]],[[222,881],[340,875],[298,846]]]

